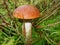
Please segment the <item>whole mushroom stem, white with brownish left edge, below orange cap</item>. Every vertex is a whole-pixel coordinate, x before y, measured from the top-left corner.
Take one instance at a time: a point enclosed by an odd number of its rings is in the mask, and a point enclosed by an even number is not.
[[[23,34],[25,35],[25,41],[26,43],[28,43],[27,45],[30,45],[29,43],[31,42],[31,28],[32,28],[31,22],[25,22],[22,26],[22,31]]]

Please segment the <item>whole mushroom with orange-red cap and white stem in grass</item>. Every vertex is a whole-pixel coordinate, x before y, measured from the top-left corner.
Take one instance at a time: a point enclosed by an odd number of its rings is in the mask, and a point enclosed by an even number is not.
[[[33,5],[22,5],[15,9],[13,16],[23,20],[22,32],[25,36],[26,45],[31,45],[31,20],[40,17],[39,10]]]

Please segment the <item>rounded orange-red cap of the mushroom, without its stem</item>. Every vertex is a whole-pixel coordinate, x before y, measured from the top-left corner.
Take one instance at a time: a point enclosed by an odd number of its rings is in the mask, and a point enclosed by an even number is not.
[[[23,5],[15,9],[13,16],[20,19],[35,19],[40,17],[39,10],[32,5]]]

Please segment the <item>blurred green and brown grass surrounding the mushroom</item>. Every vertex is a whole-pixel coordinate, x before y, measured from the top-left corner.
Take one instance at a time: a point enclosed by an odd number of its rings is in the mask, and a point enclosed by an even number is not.
[[[32,20],[32,45],[60,45],[60,0],[0,0],[0,45],[24,45],[22,22],[13,11],[36,6],[41,17]]]

